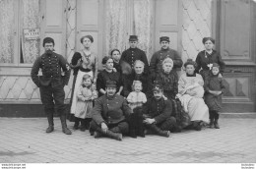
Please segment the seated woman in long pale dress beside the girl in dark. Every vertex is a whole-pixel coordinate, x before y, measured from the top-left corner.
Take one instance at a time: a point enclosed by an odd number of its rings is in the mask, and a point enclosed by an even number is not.
[[[185,112],[188,113],[193,127],[201,131],[202,125],[209,121],[209,109],[204,102],[204,81],[195,73],[196,63],[188,59],[184,64],[186,73],[178,81],[177,97]]]

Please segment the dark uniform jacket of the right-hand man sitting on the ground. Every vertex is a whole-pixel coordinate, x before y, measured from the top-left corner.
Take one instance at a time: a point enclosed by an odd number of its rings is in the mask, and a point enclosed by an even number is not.
[[[172,114],[172,104],[170,100],[164,100],[162,97],[157,100],[155,97],[148,100],[143,106],[144,116],[154,118],[157,124],[165,121]]]

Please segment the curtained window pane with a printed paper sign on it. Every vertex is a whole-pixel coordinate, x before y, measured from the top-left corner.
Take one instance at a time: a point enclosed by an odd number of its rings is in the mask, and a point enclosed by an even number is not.
[[[39,55],[40,0],[22,0],[20,63],[33,63]]]

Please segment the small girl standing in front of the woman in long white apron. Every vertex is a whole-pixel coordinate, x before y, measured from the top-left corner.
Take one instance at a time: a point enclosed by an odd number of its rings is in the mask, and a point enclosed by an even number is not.
[[[77,106],[75,112],[74,130],[78,129],[81,121],[81,131],[89,129],[92,120],[93,101],[97,98],[96,87],[93,86],[93,79],[90,75],[83,76],[83,82],[77,91]]]

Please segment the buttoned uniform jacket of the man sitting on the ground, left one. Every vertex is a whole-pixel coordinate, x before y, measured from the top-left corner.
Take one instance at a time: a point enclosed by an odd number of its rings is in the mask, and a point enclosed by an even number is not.
[[[97,125],[102,122],[106,124],[117,124],[132,113],[127,101],[123,96],[115,94],[113,97],[102,95],[96,99],[93,109],[93,119]]]

